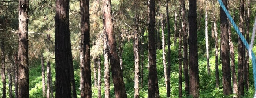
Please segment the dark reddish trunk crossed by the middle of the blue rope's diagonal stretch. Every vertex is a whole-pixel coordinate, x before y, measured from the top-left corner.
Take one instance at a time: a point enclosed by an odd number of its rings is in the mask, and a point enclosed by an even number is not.
[[[239,30],[244,35],[244,0],[240,0]],[[238,36],[238,97],[244,96],[244,59],[244,44],[242,43],[241,38]]]

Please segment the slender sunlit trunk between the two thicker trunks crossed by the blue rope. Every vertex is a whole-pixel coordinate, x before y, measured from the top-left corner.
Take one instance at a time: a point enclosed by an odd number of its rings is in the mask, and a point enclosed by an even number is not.
[[[229,22],[230,24],[230,22]],[[237,87],[237,75],[235,72],[235,53],[234,53],[234,46],[231,40],[231,26],[229,25],[229,48],[230,48],[230,59],[231,59],[231,73],[232,73],[232,82],[233,82],[233,94],[234,98],[237,98],[238,87]]]

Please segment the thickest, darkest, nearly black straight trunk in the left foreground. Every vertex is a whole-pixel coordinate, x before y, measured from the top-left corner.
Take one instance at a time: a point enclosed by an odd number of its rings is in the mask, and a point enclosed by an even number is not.
[[[55,62],[56,62],[56,98],[71,98],[72,63],[70,31],[69,31],[69,0],[56,0],[55,15]]]

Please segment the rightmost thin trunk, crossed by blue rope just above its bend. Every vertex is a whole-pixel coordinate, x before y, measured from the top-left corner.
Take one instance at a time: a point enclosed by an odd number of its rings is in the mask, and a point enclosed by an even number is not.
[[[246,25],[246,41],[249,43],[250,35],[250,0],[247,0],[247,10],[245,10],[245,25]],[[246,64],[244,65],[244,79],[245,79],[245,90],[249,91],[249,53],[246,50]]]

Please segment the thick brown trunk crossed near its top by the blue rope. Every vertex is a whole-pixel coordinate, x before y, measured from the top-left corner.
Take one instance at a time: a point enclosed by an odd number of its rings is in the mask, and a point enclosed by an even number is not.
[[[227,0],[222,0],[227,7]],[[220,8],[221,9],[221,8]],[[230,58],[229,58],[229,35],[228,21],[224,11],[220,10],[220,30],[221,30],[221,56],[222,56],[222,85],[223,94],[232,94],[231,73],[230,73]]]

